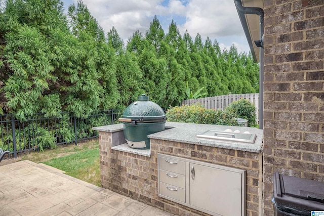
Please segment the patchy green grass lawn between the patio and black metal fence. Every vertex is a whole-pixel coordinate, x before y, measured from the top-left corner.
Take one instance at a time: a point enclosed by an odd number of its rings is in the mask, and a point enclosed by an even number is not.
[[[89,182],[100,187],[100,159],[99,142],[91,140],[58,147],[56,149],[46,149],[44,152],[31,152],[18,156],[17,158],[4,159],[0,165],[5,165],[20,160],[30,160],[35,163],[45,163],[55,168],[65,171],[66,175]]]

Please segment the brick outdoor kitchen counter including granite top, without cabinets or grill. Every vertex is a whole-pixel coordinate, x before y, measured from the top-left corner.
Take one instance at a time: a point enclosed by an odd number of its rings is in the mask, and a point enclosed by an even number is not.
[[[150,156],[113,150],[113,137],[123,133],[122,124],[94,127],[99,131],[101,185],[117,193],[178,215],[208,215],[158,196],[157,153],[195,159],[246,170],[246,215],[261,215],[263,131],[252,127],[167,122],[170,128],[149,135]],[[250,132],[254,144],[230,141],[198,140],[208,130]],[[117,136],[119,137],[119,135]],[[121,143],[118,143],[119,145]]]

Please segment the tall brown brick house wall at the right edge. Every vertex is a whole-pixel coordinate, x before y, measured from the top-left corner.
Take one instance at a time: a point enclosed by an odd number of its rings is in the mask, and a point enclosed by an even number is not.
[[[324,1],[264,1],[264,215],[272,174],[324,182]]]

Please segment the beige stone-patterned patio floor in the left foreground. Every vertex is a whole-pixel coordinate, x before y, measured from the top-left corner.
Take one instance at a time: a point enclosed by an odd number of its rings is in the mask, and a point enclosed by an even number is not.
[[[173,215],[29,160],[0,166],[0,215]]]

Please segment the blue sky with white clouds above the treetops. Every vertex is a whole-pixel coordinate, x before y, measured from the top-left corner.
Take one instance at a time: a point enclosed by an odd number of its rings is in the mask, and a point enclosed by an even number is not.
[[[77,0],[62,0],[65,13]],[[113,26],[125,44],[139,30],[145,35],[157,16],[165,33],[174,20],[183,36],[194,40],[197,33],[203,42],[216,39],[221,50],[235,45],[238,53],[249,52],[248,41],[241,26],[233,0],[83,0],[91,15],[107,33]]]

